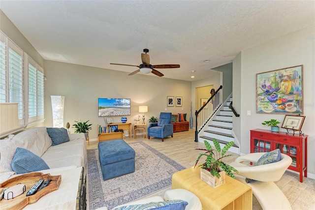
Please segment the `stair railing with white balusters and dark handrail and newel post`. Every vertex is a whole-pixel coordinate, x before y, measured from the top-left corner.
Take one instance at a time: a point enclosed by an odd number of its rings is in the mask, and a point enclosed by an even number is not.
[[[196,130],[195,130],[195,141],[198,142],[198,133],[207,124],[210,118],[214,115],[216,110],[222,104],[222,85],[218,90],[208,99],[208,101],[201,106],[201,108],[195,111],[196,118]]]

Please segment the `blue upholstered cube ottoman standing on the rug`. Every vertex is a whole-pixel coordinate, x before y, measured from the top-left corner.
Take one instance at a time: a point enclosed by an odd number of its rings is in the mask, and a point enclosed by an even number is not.
[[[104,180],[134,172],[135,152],[124,140],[101,141],[97,147]]]

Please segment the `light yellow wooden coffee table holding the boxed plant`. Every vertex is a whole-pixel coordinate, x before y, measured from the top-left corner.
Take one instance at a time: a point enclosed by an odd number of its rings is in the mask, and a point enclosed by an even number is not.
[[[188,168],[172,176],[172,189],[194,193],[203,210],[252,210],[252,188],[225,176],[225,184],[213,188],[200,179],[200,168]]]

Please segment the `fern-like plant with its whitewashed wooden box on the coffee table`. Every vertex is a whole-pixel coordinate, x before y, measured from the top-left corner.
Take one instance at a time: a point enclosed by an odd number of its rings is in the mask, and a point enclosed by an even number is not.
[[[204,150],[206,152],[203,154],[199,154],[194,167],[196,167],[202,156],[206,156],[206,161],[198,166],[201,167],[200,178],[210,186],[216,188],[225,183],[225,174],[231,176],[232,178],[235,178],[233,172],[238,173],[236,169],[224,163],[222,160],[224,157],[231,156],[231,154],[225,155],[225,153],[231,146],[233,146],[234,141],[230,141],[229,143],[225,144],[222,150],[219,141],[216,139],[213,139],[213,143],[216,149],[213,149],[207,140],[205,140],[204,142],[206,149],[197,150]]]

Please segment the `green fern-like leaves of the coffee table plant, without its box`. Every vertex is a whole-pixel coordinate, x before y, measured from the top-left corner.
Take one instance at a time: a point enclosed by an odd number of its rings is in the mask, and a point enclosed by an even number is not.
[[[224,157],[232,156],[231,154],[225,155],[225,153],[231,146],[233,146],[234,141],[230,141],[229,143],[225,144],[222,150],[221,150],[219,141],[216,139],[213,139],[213,143],[216,149],[213,149],[207,140],[205,140],[204,142],[205,142],[206,149],[197,149],[197,150],[204,150],[206,152],[203,154],[199,154],[194,167],[196,167],[197,163],[199,162],[202,156],[206,156],[206,162],[199,165],[198,167],[201,167],[202,169],[209,171],[211,175],[217,176],[218,178],[220,178],[220,174],[219,174],[220,171],[224,171],[227,175],[231,176],[232,178],[235,178],[235,176],[233,175],[233,172],[238,173],[238,171],[234,169],[232,166],[222,161]]]

